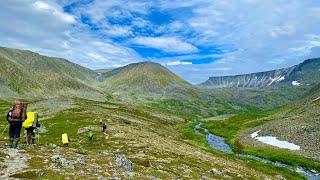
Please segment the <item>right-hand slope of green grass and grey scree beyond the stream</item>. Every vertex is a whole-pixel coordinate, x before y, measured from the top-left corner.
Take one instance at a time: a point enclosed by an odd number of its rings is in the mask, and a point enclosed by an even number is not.
[[[318,85],[295,103],[274,110],[239,114],[204,124],[211,132],[225,137],[236,151],[320,170],[319,90]],[[280,149],[258,142],[250,136],[257,130],[261,130],[261,136],[275,136],[301,146],[301,150]]]

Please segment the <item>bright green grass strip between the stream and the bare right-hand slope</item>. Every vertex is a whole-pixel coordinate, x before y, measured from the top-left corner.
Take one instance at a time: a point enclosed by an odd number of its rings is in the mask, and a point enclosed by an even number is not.
[[[298,155],[288,150],[274,148],[257,148],[243,144],[238,138],[241,132],[263,125],[270,120],[265,117],[282,111],[286,107],[274,110],[250,112],[233,116],[222,121],[205,121],[204,126],[214,134],[224,137],[233,150],[239,153],[247,153],[279,161],[294,167],[302,166],[310,169],[320,170],[320,163],[312,161],[302,155]]]

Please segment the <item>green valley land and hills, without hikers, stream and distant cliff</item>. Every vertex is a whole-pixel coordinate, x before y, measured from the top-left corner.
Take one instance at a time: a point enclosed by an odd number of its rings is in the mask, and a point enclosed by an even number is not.
[[[213,149],[208,132],[198,132],[199,123],[225,138],[234,152],[320,171],[320,94],[310,72],[303,76],[309,85],[299,87],[212,88],[192,85],[153,62],[94,71],[60,58],[0,48],[0,64],[0,177],[305,178],[295,170]],[[263,101],[256,103],[259,96]],[[6,148],[5,116],[15,99],[39,113],[42,127],[35,146],[21,145],[12,155]],[[105,133],[100,120],[108,125]],[[89,129],[92,143],[86,137]],[[301,150],[258,142],[250,137],[257,130]],[[70,138],[67,147],[61,143],[63,133]],[[15,158],[21,166],[13,172]]]

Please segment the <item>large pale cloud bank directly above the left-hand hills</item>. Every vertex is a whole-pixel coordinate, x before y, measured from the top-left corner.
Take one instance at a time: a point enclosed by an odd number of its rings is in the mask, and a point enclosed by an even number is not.
[[[52,1],[0,1],[0,45],[62,57],[89,68],[141,61],[134,50],[94,37]],[[71,18],[72,17],[72,18]],[[75,18],[74,18],[75,19]]]

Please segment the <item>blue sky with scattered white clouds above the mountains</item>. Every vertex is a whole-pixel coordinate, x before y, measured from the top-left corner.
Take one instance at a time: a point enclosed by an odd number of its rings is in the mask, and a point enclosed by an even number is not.
[[[192,83],[320,57],[319,0],[0,0],[0,46]]]

